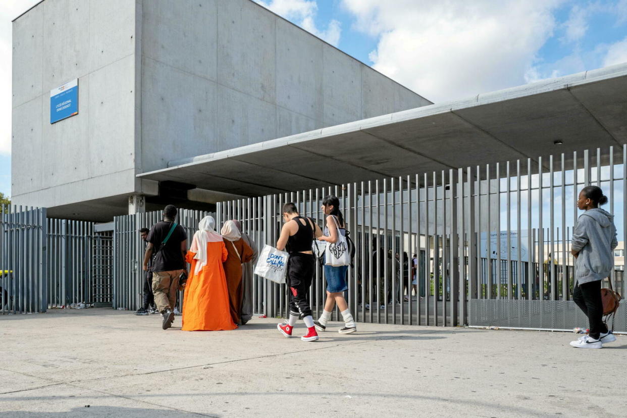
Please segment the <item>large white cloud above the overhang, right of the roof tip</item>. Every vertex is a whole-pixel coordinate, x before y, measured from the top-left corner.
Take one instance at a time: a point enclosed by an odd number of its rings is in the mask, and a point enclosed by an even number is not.
[[[354,28],[379,37],[373,67],[435,102],[532,78],[561,0],[343,0]]]

